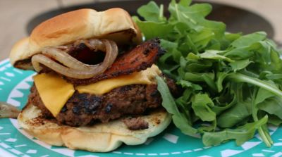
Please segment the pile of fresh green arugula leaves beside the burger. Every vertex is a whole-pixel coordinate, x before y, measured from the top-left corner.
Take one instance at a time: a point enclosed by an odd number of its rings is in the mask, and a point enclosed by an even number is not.
[[[159,68],[182,87],[173,98],[157,77],[162,105],[184,134],[202,135],[206,146],[235,139],[240,145],[259,132],[266,146],[273,144],[266,125],[282,123],[281,51],[265,32],[226,32],[226,25],[207,20],[209,4],[154,1],[133,17],[145,39],[159,37],[166,54]]]

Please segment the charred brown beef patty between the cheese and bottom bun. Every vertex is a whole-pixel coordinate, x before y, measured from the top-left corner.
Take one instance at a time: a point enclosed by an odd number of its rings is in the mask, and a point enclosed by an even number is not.
[[[172,92],[176,85],[168,79]],[[40,108],[44,118],[53,119],[53,115],[44,106],[35,85],[31,88],[29,103]],[[133,84],[118,87],[102,96],[75,92],[56,116],[56,123],[73,127],[92,125],[95,122],[106,123],[123,115],[141,115],[149,108],[159,108],[161,96],[157,84]]]

